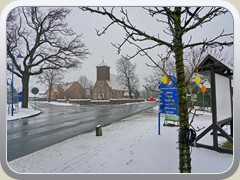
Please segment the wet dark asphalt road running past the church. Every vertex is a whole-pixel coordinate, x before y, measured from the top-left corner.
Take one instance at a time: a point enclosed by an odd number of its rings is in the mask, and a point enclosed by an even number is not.
[[[156,106],[156,102],[129,105],[56,106],[38,103],[39,116],[7,123],[7,159],[30,154],[47,146],[109,125]]]

